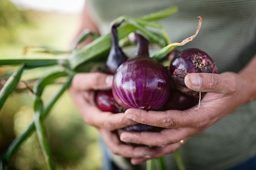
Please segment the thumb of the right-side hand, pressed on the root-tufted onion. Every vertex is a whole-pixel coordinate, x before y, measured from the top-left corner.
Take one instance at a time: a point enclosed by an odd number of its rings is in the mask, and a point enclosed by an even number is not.
[[[231,94],[236,90],[236,76],[234,73],[211,74],[193,73],[186,75],[185,85],[198,92],[216,92]]]

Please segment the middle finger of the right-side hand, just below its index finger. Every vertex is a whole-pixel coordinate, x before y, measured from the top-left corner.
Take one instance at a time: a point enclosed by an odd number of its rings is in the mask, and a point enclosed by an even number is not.
[[[177,143],[181,139],[195,134],[195,132],[195,129],[192,128],[171,128],[164,129],[161,132],[123,132],[120,135],[120,140],[123,142],[164,147]]]

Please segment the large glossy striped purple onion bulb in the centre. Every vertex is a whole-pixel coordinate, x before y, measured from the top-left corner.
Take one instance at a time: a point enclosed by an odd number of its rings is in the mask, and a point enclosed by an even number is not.
[[[169,96],[170,78],[167,69],[149,57],[132,58],[118,67],[112,93],[123,108],[154,110]]]

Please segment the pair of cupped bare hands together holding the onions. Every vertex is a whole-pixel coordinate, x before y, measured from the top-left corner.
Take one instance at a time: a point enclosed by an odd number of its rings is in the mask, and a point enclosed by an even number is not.
[[[99,130],[110,150],[114,154],[131,157],[132,164],[139,164],[150,158],[174,152],[181,147],[181,139],[186,142],[191,136],[204,131],[240,105],[255,100],[256,76],[251,74],[254,72],[256,57],[238,74],[226,72],[187,75],[185,84],[188,88],[208,92],[197,110],[195,106],[184,111],[145,111],[132,108],[127,109],[125,113],[102,112],[94,103],[94,90],[110,89],[112,77],[110,75],[107,81],[108,76],[101,73],[77,74],[70,93],[85,122]],[[124,115],[132,120],[129,121]],[[160,132],[123,132],[120,139],[112,132],[136,124],[134,121],[166,129]],[[156,147],[134,147],[123,144],[120,140]]]

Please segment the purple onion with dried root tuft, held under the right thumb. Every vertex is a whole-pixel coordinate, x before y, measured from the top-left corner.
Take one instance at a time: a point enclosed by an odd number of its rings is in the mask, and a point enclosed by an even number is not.
[[[199,96],[199,92],[190,90],[184,83],[189,73],[217,73],[217,67],[211,57],[199,49],[187,49],[179,52],[170,64],[170,76],[175,87],[189,96]]]

